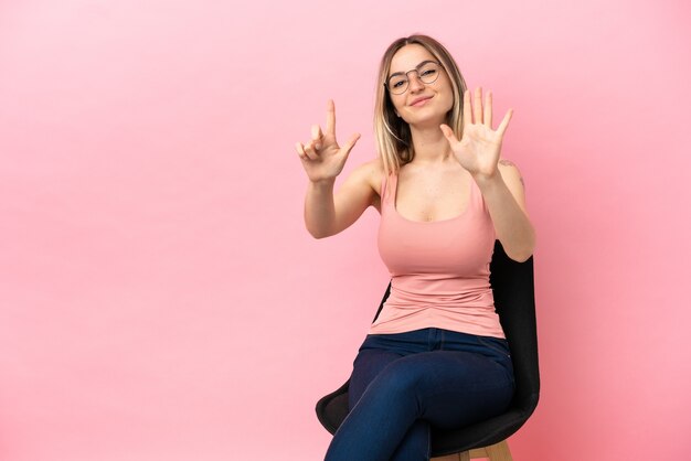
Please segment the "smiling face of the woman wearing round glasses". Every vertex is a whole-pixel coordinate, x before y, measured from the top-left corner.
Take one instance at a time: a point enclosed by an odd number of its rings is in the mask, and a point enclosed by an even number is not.
[[[407,89],[400,95],[390,90],[389,95],[396,114],[419,128],[444,124],[446,114],[454,107],[454,88],[442,65],[437,66],[437,79],[429,84],[423,83],[417,72],[410,72],[417,68],[424,73],[425,62],[436,63],[437,60],[422,45],[405,45],[394,54],[387,76],[407,73]]]

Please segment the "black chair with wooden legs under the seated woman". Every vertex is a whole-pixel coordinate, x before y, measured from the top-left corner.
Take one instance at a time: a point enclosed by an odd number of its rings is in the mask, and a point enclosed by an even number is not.
[[[490,283],[495,307],[511,349],[515,394],[502,415],[454,430],[432,428],[432,457],[458,453],[461,460],[469,455],[512,460],[506,439],[523,426],[538,406],[540,374],[538,366],[538,331],[535,324],[535,296],[533,258],[517,262],[509,258],[497,240],[490,264]],[[376,311],[376,317],[389,297],[391,283]],[[322,397],[317,403],[317,417],[321,425],[334,433],[348,415],[348,385]],[[487,448],[487,450],[485,450]],[[451,458],[446,458],[451,459]],[[456,459],[455,457],[453,459]],[[491,458],[490,458],[491,459]],[[492,459],[492,461],[495,461]]]

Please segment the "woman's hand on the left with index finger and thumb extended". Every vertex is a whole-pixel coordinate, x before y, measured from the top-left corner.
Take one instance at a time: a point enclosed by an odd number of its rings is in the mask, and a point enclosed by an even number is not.
[[[321,131],[319,125],[312,125],[312,139],[306,144],[298,142],[295,148],[307,176],[316,183],[333,180],[341,173],[348,154],[358,139],[360,139],[360,133],[354,133],[342,147],[336,142],[336,108],[333,100],[329,100],[326,132]]]

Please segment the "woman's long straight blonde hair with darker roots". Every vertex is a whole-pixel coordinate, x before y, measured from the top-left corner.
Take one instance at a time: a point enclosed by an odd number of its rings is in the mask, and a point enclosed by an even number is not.
[[[386,175],[397,173],[401,167],[415,158],[413,138],[410,126],[396,115],[389,90],[384,86],[391,71],[391,61],[394,54],[405,45],[418,44],[424,46],[449,76],[454,88],[454,106],[446,115],[446,125],[451,127],[456,138],[463,136],[463,105],[466,81],[464,79],[456,61],[444,45],[427,35],[411,35],[396,40],[386,49],[379,67],[376,85],[376,100],[374,104],[374,137],[379,154],[384,164]]]

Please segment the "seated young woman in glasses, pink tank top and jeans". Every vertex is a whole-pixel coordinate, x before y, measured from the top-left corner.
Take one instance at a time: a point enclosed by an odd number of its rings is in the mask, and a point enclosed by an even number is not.
[[[492,95],[470,94],[448,51],[425,35],[382,57],[374,130],[379,157],[337,175],[359,139],[327,125],[296,149],[309,178],[305,223],[340,233],[369,206],[381,213],[379,249],[391,294],[353,363],[350,412],[326,459],[428,460],[429,427],[458,428],[502,412],[513,395],[508,344],[495,312],[495,240],[510,258],[533,253],[518,168],[501,159],[509,110],[492,128]]]

